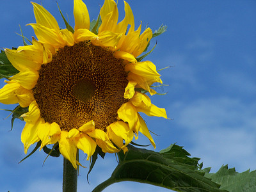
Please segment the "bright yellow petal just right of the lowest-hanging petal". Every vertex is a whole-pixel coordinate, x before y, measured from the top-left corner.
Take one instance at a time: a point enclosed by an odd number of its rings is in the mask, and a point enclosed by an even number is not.
[[[85,154],[87,154],[87,159],[89,160],[90,157],[93,155],[93,153],[95,152],[95,148],[96,148],[96,142],[93,141],[92,138],[90,138],[90,136],[86,135],[86,134],[81,134],[81,138],[79,138],[79,140],[77,141],[77,148],[83,150],[83,152]]]

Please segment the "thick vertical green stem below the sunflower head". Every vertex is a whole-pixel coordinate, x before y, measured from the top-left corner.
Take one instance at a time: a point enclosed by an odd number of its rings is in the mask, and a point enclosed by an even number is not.
[[[77,170],[63,157],[63,192],[76,192],[77,190]]]

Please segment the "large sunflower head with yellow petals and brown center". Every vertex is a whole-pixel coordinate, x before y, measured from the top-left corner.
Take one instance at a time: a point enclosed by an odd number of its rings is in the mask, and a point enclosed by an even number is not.
[[[151,61],[136,60],[152,30],[141,33],[141,24],[135,30],[131,7],[124,3],[125,17],[118,22],[115,1],[106,0],[100,8],[102,22],[91,30],[81,0],[74,0],[74,29],[60,29],[51,13],[32,3],[36,23],[28,25],[38,40],[4,49],[19,73],[0,90],[3,104],[28,107],[21,116],[26,122],[21,134],[25,153],[38,141],[40,149],[58,143],[60,153],[77,168],[77,148],[87,160],[97,145],[105,153],[126,152],[139,132],[156,148],[138,112],[167,118],[165,109],[145,95],[154,95],[150,86],[162,81]]]

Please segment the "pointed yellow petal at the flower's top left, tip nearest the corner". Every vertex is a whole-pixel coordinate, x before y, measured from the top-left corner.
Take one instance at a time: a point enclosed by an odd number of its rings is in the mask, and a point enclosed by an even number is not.
[[[59,25],[56,19],[49,13],[43,6],[37,3],[31,2],[34,6],[34,14],[36,23],[46,28],[59,30]]]

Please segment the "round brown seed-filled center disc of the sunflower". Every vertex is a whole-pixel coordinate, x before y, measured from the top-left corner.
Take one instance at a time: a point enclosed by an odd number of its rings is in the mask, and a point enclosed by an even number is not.
[[[126,77],[123,60],[113,52],[80,42],[59,49],[42,65],[33,94],[45,122],[69,131],[94,120],[96,129],[105,130],[127,102]]]

